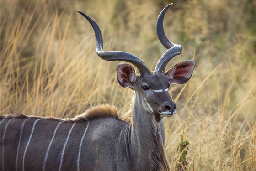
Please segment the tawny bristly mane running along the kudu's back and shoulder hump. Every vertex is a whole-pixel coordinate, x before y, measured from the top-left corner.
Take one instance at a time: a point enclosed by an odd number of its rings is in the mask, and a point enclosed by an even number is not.
[[[97,106],[93,106],[90,109],[87,109],[84,113],[80,115],[76,115],[74,118],[55,118],[55,117],[41,117],[41,116],[34,116],[34,115],[24,115],[24,114],[16,114],[16,115],[0,115],[0,119],[3,118],[44,118],[49,120],[56,120],[61,122],[69,122],[69,123],[79,123],[79,122],[85,122],[95,119],[101,119],[101,118],[116,118],[121,119],[126,122],[130,122],[131,119],[129,119],[128,115],[123,116],[120,118],[117,114],[117,108],[115,106],[111,106],[109,104],[101,104]]]

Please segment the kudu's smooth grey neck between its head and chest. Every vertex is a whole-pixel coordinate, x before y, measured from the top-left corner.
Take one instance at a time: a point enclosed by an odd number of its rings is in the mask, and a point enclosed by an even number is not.
[[[163,120],[157,122],[154,114],[144,110],[142,100],[139,93],[135,92],[130,127],[131,158],[136,163],[135,166],[145,165],[152,169],[151,163],[158,160],[152,156],[155,156],[155,153],[164,153],[164,124]],[[148,159],[151,159],[151,163]]]

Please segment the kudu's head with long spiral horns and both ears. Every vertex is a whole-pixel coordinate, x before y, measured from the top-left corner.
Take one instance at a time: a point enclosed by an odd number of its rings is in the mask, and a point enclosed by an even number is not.
[[[181,54],[182,47],[171,42],[165,35],[163,19],[166,10],[172,4],[167,5],[157,20],[157,35],[164,47],[168,50],[160,57],[155,71],[151,72],[139,57],[122,51],[104,51],[101,30],[90,16],[78,11],[91,24],[96,37],[96,52],[99,57],[107,61],[126,61],[132,63],[139,70],[136,75],[133,66],[125,63],[117,65],[117,80],[122,87],[129,87],[135,91],[135,100],[140,111],[154,114],[160,121],[164,116],[170,117],[177,113],[176,104],[171,100],[168,89],[172,83],[186,83],[192,76],[195,67],[194,60],[187,60],[176,64],[165,72],[167,63],[175,56]]]

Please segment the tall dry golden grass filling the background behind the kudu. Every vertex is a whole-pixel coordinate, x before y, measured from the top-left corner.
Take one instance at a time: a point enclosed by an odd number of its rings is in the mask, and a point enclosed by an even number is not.
[[[131,52],[153,70],[166,50],[155,23],[168,3],[1,1],[0,114],[65,118],[101,103],[126,113],[133,91],[117,83],[118,62],[97,57],[94,32],[75,10],[98,22],[105,50]],[[165,32],[183,46],[168,67],[197,62],[189,83],[170,90],[178,110],[164,119],[172,169],[182,156],[177,147],[187,140],[184,169],[256,170],[255,9],[253,0],[181,0],[167,11]]]

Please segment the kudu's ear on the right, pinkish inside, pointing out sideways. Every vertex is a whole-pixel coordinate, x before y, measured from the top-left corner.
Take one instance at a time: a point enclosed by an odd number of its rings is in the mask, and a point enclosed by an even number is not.
[[[195,67],[195,60],[187,60],[178,63],[165,72],[170,83],[184,84],[191,78]]]

